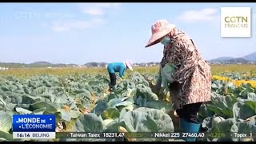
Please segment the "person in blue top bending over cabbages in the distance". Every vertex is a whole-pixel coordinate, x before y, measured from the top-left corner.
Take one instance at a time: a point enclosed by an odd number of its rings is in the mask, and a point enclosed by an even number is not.
[[[107,66],[107,71],[110,74],[110,90],[114,90],[114,86],[117,83],[117,77],[115,73],[119,73],[120,78],[124,78],[126,69],[133,70],[132,62],[126,60],[126,62],[112,62]]]

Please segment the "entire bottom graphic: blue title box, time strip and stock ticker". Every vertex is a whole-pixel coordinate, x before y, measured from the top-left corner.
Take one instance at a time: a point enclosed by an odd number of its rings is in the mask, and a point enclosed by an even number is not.
[[[13,138],[255,138],[249,133],[180,133],[180,132],[55,132],[54,114],[14,114]]]

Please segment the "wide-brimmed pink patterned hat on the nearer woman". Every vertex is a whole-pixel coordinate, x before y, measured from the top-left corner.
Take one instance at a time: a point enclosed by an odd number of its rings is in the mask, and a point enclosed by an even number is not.
[[[166,36],[166,34],[169,34],[170,31],[174,29],[174,27],[175,25],[170,24],[166,19],[161,19],[157,22],[154,22],[154,24],[151,26],[151,38],[145,47],[153,46],[160,42],[159,40]]]

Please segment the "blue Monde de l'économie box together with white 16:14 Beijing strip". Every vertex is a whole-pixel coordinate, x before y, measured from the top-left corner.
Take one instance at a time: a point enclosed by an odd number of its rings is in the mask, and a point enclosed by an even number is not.
[[[13,115],[13,138],[55,138],[55,115]]]

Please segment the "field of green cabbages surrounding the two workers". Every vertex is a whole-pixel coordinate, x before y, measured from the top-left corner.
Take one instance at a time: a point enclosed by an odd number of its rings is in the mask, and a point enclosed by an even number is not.
[[[198,113],[207,130],[198,141],[255,141],[256,73],[213,71],[211,102]],[[243,69],[245,70],[245,69]],[[254,69],[252,69],[254,70]],[[154,94],[157,69],[138,68],[108,91],[105,70],[6,70],[0,76],[0,141],[117,141],[114,138],[13,139],[13,114],[54,114],[56,132],[178,132],[165,88]],[[66,72],[65,72],[66,71]],[[230,134],[246,133],[246,138]],[[252,134],[254,137],[250,137]],[[58,135],[58,134],[57,134]],[[182,141],[123,138],[122,141]]]

